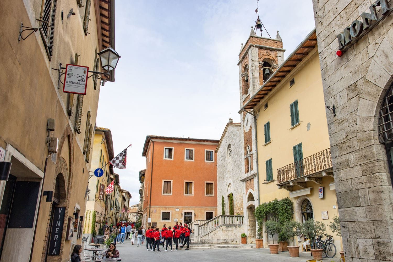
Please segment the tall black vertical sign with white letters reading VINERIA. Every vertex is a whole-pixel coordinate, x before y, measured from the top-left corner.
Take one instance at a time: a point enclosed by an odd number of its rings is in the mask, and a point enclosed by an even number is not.
[[[48,251],[49,256],[58,256],[60,254],[61,236],[63,234],[65,214],[65,207],[55,207]]]

